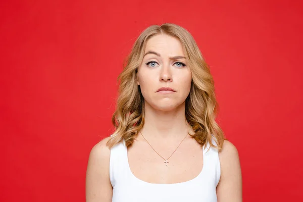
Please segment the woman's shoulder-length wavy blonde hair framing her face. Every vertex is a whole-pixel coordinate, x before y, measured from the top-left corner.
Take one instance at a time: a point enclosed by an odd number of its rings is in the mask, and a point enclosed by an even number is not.
[[[195,133],[189,135],[202,146],[209,142],[212,147],[220,150],[224,134],[215,121],[218,104],[209,66],[191,34],[186,29],[171,23],[149,26],[136,39],[124,69],[118,77],[119,96],[112,117],[115,131],[107,145],[111,148],[123,140],[127,147],[132,145],[144,125],[144,98],[137,85],[136,73],[143,60],[147,40],[158,34],[167,34],[180,40],[192,73],[191,89],[185,100],[185,117]],[[217,146],[213,144],[213,138]]]

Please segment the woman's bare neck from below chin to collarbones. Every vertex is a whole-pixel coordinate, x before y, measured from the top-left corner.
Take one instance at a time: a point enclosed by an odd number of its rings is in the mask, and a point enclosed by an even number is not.
[[[190,131],[185,117],[185,103],[172,111],[156,110],[147,103],[141,133],[150,138],[184,137]]]

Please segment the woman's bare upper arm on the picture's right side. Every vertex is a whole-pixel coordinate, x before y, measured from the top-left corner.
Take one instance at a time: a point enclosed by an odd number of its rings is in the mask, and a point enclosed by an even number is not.
[[[219,153],[221,177],[217,186],[218,202],[242,201],[242,175],[236,147],[224,140]]]

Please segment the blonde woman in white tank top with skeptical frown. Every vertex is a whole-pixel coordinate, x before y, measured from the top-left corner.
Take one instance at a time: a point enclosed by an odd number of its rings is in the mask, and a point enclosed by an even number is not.
[[[237,149],[215,122],[208,65],[175,24],[150,26],[123,72],[116,131],[91,150],[86,201],[242,201]]]

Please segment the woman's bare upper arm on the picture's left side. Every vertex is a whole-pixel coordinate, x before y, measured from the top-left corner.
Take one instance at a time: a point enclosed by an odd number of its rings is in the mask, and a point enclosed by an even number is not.
[[[110,202],[113,187],[110,182],[110,149],[108,138],[93,146],[86,170],[86,202]]]

